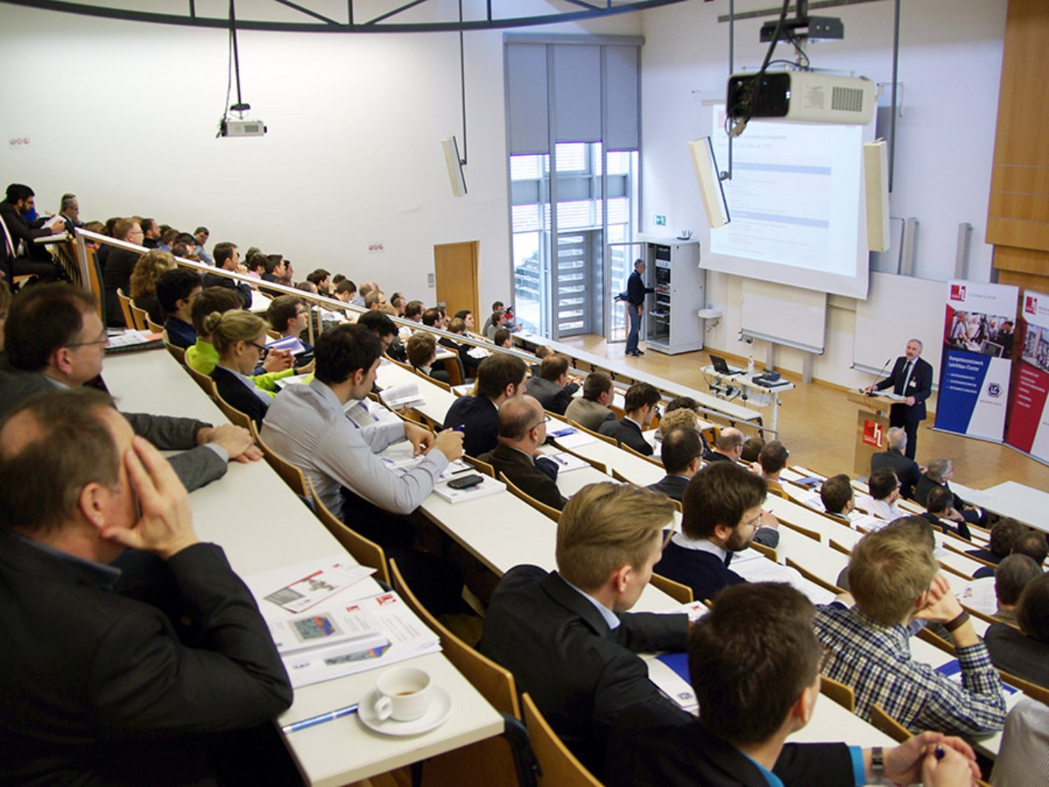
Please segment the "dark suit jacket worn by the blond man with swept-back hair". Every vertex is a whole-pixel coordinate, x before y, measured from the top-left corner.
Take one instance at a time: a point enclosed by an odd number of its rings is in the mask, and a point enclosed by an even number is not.
[[[636,653],[684,651],[685,615],[621,614],[616,629],[556,573],[511,569],[485,619],[481,653],[514,674],[565,745],[601,778],[605,737],[616,718],[638,706],[663,723],[691,717],[648,680]]]

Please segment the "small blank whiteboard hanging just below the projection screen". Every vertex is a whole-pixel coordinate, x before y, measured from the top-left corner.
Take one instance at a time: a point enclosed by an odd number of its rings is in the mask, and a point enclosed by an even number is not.
[[[823,353],[827,293],[763,279],[743,280],[744,336]]]

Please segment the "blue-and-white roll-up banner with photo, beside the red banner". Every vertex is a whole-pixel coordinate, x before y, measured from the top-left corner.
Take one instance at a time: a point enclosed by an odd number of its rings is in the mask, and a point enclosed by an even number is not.
[[[1006,284],[947,282],[937,429],[1003,439],[1018,293]]]

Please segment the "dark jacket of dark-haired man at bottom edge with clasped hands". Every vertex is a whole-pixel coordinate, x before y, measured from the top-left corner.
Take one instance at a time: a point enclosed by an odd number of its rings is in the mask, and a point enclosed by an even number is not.
[[[768,787],[757,766],[698,721],[669,726],[644,709],[617,720],[608,741],[609,787]],[[788,743],[773,772],[785,787],[851,785],[852,756],[843,743]]]

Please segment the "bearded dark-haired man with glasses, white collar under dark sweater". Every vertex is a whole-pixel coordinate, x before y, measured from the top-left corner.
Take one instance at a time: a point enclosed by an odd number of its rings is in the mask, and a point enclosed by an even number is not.
[[[732,555],[750,547],[758,532],[763,541],[773,541],[767,546],[779,541],[775,517],[762,512],[767,494],[765,482],[735,463],[705,466],[685,489],[681,532],[670,537],[657,573],[687,584],[700,601],[745,582],[729,570]]]

